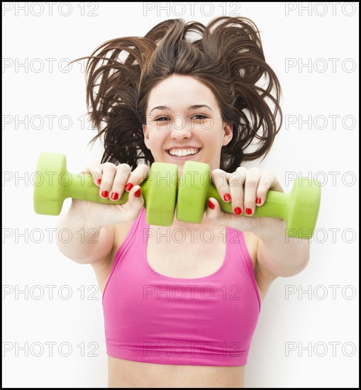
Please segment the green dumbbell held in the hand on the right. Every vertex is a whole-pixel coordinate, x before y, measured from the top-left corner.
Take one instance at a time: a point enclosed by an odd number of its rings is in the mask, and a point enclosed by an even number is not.
[[[233,213],[232,204],[223,201],[211,183],[209,165],[185,162],[178,184],[177,220],[201,223],[210,197],[218,201],[221,210]],[[282,218],[286,221],[288,237],[309,239],[316,226],[320,201],[320,184],[299,177],[287,194],[268,191],[265,204],[257,206],[250,217]]]

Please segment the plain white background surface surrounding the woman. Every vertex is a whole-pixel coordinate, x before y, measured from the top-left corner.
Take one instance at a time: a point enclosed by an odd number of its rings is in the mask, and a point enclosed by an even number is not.
[[[192,15],[187,3],[168,11],[159,3],[56,3],[52,13],[45,3],[3,3],[4,387],[107,386],[94,273],[57,250],[50,229],[58,217],[33,211],[40,152],[64,153],[74,173],[101,157],[98,144],[87,145],[95,130],[88,129],[84,62],[68,72],[64,59],[145,35],[167,18],[209,23],[225,14],[221,4],[195,4]],[[245,386],[358,386],[358,4],[227,3],[231,11],[256,23],[283,89],[285,121],[261,167],[274,170],[286,192],[295,174],[323,183],[311,260],[272,284]],[[310,124],[299,121],[309,116]],[[54,286],[52,296],[46,286]]]

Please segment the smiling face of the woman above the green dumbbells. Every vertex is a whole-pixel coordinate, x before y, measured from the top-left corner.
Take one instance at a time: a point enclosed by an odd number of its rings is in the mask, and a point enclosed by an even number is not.
[[[191,76],[173,74],[151,91],[143,125],[145,145],[155,162],[171,162],[182,172],[185,161],[219,168],[221,147],[233,136],[222,121],[213,92]],[[194,154],[195,153],[195,154]]]

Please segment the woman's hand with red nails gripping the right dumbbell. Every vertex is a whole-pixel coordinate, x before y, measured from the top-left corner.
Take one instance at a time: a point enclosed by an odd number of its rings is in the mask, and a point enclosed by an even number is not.
[[[221,210],[216,199],[209,198],[206,216],[218,225],[251,231],[258,236],[269,233],[272,228],[285,228],[284,221],[279,218],[248,218],[256,207],[265,203],[268,191],[284,192],[274,172],[256,167],[238,167],[233,173],[214,169],[211,179],[218,194],[224,201],[231,203],[233,209],[233,213],[226,213]]]

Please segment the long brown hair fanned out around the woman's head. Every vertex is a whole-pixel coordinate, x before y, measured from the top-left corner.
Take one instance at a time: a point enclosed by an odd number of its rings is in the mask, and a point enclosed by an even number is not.
[[[169,19],[145,37],[109,40],[83,58],[88,59],[87,106],[98,129],[90,143],[104,136],[101,162],[125,162],[132,169],[140,160],[154,162],[142,124],[150,91],[171,74],[192,76],[209,87],[223,121],[233,125],[233,138],[221,150],[220,168],[226,172],[264,158],[282,126],[281,87],[248,18],[221,16],[207,26]]]

